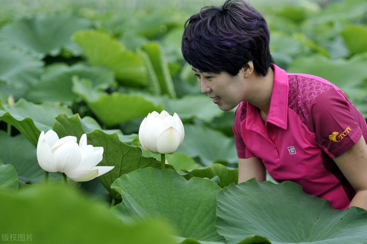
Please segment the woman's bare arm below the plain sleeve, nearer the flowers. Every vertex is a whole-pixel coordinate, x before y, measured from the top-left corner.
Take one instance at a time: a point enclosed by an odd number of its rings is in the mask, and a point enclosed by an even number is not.
[[[258,157],[238,159],[238,183],[254,177],[258,182],[266,180],[266,169],[261,159]]]

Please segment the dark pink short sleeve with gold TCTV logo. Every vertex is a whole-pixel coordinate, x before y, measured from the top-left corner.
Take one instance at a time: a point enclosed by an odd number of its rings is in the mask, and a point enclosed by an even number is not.
[[[321,93],[311,105],[316,142],[330,156],[346,152],[361,138],[362,130],[350,110],[350,104],[338,90]]]

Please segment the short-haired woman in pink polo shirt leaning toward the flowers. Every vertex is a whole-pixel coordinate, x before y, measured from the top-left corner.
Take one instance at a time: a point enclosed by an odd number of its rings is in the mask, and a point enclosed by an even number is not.
[[[333,208],[367,209],[366,120],[334,84],[276,66],[269,41],[264,17],[241,0],[202,8],[182,36],[201,92],[224,111],[239,104],[239,183],[265,181],[268,170]]]

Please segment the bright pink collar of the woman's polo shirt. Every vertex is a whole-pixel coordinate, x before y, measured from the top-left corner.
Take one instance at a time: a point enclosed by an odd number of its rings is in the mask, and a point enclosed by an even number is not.
[[[284,69],[272,64],[274,68],[274,82],[272,96],[270,98],[270,108],[266,121],[272,123],[284,130],[288,127],[288,76]],[[253,108],[252,108],[253,107]],[[259,123],[257,117],[260,117],[258,110],[254,105],[247,103],[246,128],[250,129],[254,122]]]

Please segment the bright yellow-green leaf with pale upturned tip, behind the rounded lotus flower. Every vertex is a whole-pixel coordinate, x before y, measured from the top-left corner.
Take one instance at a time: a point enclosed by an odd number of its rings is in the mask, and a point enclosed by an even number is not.
[[[106,92],[95,90],[90,80],[73,77],[73,92],[78,94],[90,110],[106,126],[112,126],[147,115],[152,111],[161,112],[160,105],[154,105],[144,96],[124,94],[121,92]]]

